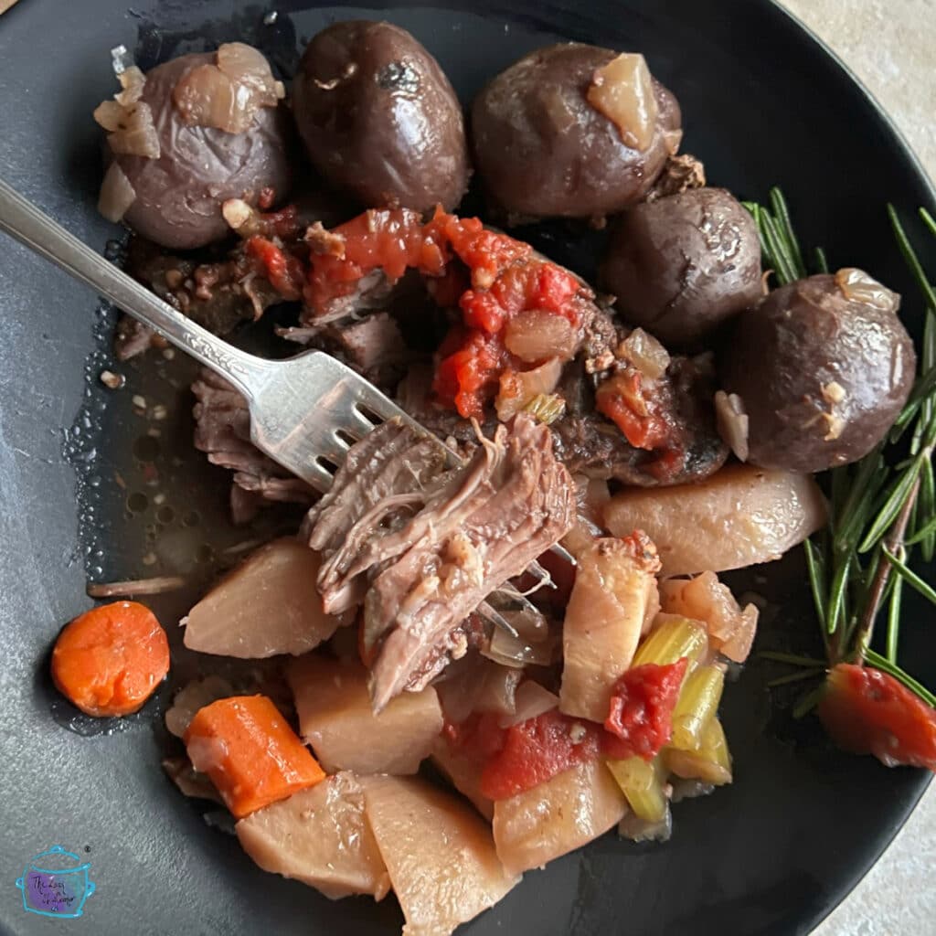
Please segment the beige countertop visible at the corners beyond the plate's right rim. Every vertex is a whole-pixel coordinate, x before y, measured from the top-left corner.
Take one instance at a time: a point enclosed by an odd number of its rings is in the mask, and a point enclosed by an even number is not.
[[[936,179],[936,0],[783,2],[865,83]],[[881,860],[813,936],[932,936],[934,870],[936,783]]]

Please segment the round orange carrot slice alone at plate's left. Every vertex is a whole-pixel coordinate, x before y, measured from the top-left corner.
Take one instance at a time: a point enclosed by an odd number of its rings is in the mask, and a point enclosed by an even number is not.
[[[129,715],[168,673],[166,632],[138,602],[93,607],[66,624],[51,669],[58,691],[85,714]]]

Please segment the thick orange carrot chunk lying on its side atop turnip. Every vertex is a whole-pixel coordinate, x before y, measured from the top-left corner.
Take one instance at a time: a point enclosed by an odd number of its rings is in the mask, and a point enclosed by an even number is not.
[[[233,695],[198,709],[185,748],[238,819],[325,779],[266,695]]]

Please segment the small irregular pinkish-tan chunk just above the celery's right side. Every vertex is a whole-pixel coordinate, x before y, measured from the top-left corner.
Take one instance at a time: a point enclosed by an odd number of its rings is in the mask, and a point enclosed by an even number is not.
[[[667,614],[703,622],[712,647],[735,663],[744,663],[757,631],[757,608],[743,610],[727,585],[714,572],[696,578],[670,578],[660,585],[660,602]]]

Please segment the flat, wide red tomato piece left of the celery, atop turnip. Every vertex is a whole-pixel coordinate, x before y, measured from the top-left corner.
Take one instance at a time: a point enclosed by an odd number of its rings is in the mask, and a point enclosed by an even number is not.
[[[598,725],[556,710],[511,725],[503,749],[481,772],[481,792],[496,800],[532,790],[563,770],[594,760],[600,744]]]

